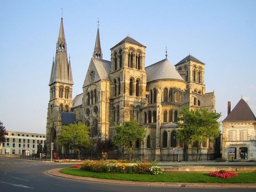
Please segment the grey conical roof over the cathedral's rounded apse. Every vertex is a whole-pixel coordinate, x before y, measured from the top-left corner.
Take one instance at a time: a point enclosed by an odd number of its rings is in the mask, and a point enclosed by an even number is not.
[[[184,81],[168,59],[156,62],[153,65],[146,67],[145,70],[147,73],[147,82],[160,79],[177,79]]]

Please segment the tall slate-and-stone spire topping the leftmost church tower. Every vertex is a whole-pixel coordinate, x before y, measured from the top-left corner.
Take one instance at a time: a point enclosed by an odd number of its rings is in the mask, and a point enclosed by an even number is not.
[[[70,61],[68,61],[66,39],[64,34],[63,19],[60,21],[60,31],[56,45],[55,59],[52,64],[52,71],[49,85],[60,82],[73,85]]]

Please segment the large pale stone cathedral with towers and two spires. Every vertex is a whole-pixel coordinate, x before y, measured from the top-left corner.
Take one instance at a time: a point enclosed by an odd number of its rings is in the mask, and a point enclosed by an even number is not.
[[[163,60],[146,67],[145,52],[145,45],[127,36],[111,47],[110,61],[104,60],[98,27],[83,93],[73,99],[74,82],[61,18],[49,82],[47,148],[54,142],[54,151],[63,153],[63,147],[56,143],[61,126],[81,121],[90,126],[91,153],[97,153],[95,146],[114,137],[116,124],[136,119],[147,130],[145,140],[136,143],[133,155],[137,158],[168,161],[173,148],[183,149],[184,143],[175,138],[180,110],[215,111],[214,92],[206,92],[204,84],[205,63],[189,54],[173,66],[166,51]],[[213,148],[213,143],[204,142],[202,153]]]

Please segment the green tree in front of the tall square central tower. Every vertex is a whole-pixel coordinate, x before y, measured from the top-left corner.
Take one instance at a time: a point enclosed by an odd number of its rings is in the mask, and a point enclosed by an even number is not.
[[[113,139],[114,145],[123,147],[123,157],[124,148],[126,148],[131,159],[135,142],[137,140],[143,141],[146,137],[145,127],[140,126],[137,121],[133,120],[124,122],[124,125],[116,125],[115,130],[116,135]]]

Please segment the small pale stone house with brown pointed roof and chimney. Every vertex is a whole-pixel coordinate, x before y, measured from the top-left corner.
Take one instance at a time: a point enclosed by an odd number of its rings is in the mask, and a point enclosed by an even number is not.
[[[222,158],[256,159],[256,117],[247,102],[241,99],[222,121]]]

